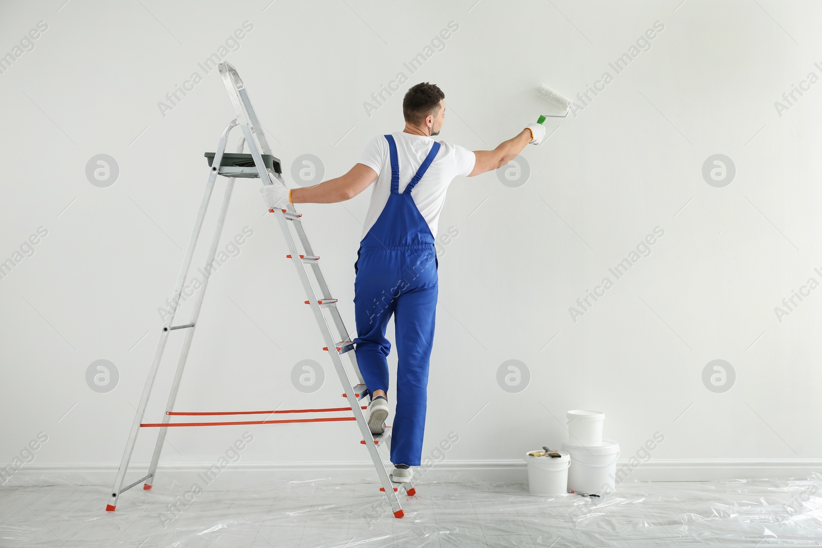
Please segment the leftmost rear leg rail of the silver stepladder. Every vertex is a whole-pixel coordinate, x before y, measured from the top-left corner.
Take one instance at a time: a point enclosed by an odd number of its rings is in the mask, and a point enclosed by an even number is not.
[[[151,361],[149,375],[145,379],[145,385],[143,386],[143,392],[140,397],[140,403],[137,405],[136,412],[134,414],[134,421],[132,422],[132,431],[129,433],[128,440],[126,441],[126,449],[123,451],[122,459],[120,460],[120,467],[117,471],[117,477],[115,477],[114,479],[114,485],[111,490],[112,492],[109,496],[109,504],[106,506],[107,510],[113,510],[117,507],[117,501],[120,497],[122,482],[125,480],[126,472],[128,471],[128,464],[131,461],[132,453],[134,452],[134,445],[136,444],[137,433],[140,431],[140,423],[143,419],[143,415],[145,414],[145,408],[148,405],[149,397],[151,395],[151,389],[154,386],[154,382],[157,377],[159,362],[163,358],[165,344],[169,339],[169,328],[173,323],[174,315],[177,313],[177,307],[180,301],[180,296],[182,294],[182,286],[186,281],[186,278],[188,276],[188,269],[192,264],[194,248],[196,247],[197,239],[200,237],[200,231],[202,228],[203,220],[205,219],[205,211],[208,209],[208,204],[211,199],[211,192],[214,191],[214,184],[217,179],[217,167],[223,159],[225,145],[229,139],[229,132],[235,126],[237,126],[236,118],[229,122],[229,124],[223,130],[223,134],[219,138],[219,144],[217,145],[217,151],[215,153],[214,167],[211,169],[211,172],[208,177],[208,182],[205,184],[205,193],[203,194],[200,203],[200,210],[197,211],[196,220],[194,221],[194,229],[192,230],[192,236],[188,240],[186,253],[183,256],[182,266],[180,267],[180,272],[177,277],[177,283],[174,284],[174,292],[172,294],[171,299],[170,314],[168,319],[165,321],[164,329],[160,332],[159,335],[159,341],[157,342],[155,356],[154,359]]]

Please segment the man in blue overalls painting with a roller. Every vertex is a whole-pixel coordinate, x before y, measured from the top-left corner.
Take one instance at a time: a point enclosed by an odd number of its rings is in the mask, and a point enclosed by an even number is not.
[[[261,188],[266,207],[275,209],[289,202],[350,200],[376,180],[354,263],[354,343],[371,394],[368,426],[380,434],[389,412],[386,325],[394,315],[397,403],[390,457],[395,464],[391,480],[400,483],[411,481],[409,467],[419,466],[423,452],[437,295],[434,237],[448,185],[457,176],[501,168],[526,144],[539,145],[545,137],[545,128],[532,123],[494,150],[472,152],[435,141],[432,136],[445,122],[445,97],[434,84],[411,87],[403,99],[404,130],[376,136],[360,162],[341,177],[290,191],[277,181]]]

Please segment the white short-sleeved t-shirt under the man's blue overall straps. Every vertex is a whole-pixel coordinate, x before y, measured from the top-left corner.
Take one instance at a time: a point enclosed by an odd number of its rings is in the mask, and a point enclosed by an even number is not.
[[[425,161],[434,143],[433,137],[413,135],[404,131],[391,133],[397,145],[397,163],[399,163],[399,192],[405,190]],[[466,176],[473,171],[476,154],[463,146],[452,145],[441,140],[440,150],[428,166],[423,178],[411,191],[413,203],[423,215],[432,236],[436,237],[436,227],[440,212],[446,201],[446,190],[454,177]],[[391,159],[388,140],[385,135],[374,137],[365,147],[359,163],[364,163],[376,171],[376,181],[371,195],[371,205],[363,225],[363,237],[372,228],[388,202],[391,193]],[[362,239],[362,238],[361,238]]]

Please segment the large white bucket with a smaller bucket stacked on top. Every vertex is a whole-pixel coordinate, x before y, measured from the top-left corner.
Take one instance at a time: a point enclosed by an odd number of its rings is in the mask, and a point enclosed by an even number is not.
[[[619,444],[603,440],[601,445],[573,445],[562,442],[562,450],[570,454],[568,489],[598,495],[614,489],[617,475]]]

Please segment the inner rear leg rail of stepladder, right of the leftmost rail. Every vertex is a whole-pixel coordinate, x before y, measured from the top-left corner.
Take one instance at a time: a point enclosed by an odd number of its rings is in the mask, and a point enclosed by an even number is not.
[[[242,149],[245,146],[246,138],[244,136],[240,137],[240,141],[237,145],[237,153],[242,153]],[[217,164],[215,164],[217,165]],[[234,189],[234,177],[227,177],[228,181],[225,184],[225,192],[223,195],[223,204],[220,206],[219,215],[217,217],[217,224],[215,226],[214,237],[211,239],[211,246],[208,251],[208,256],[205,258],[205,273],[208,274],[205,276],[203,280],[203,286],[200,288],[200,291],[197,293],[197,296],[194,300],[194,306],[192,308],[192,315],[188,320],[188,323],[192,326],[191,329],[188,330],[186,333],[186,338],[182,343],[182,349],[180,351],[180,357],[177,363],[177,371],[174,372],[174,380],[172,381],[171,390],[169,392],[169,400],[165,405],[165,413],[163,415],[163,424],[167,424],[171,419],[169,415],[170,412],[174,411],[174,403],[177,401],[178,391],[180,389],[180,380],[182,380],[182,371],[186,367],[186,362],[188,360],[188,352],[192,348],[192,340],[194,339],[194,333],[196,329],[197,322],[200,319],[200,311],[202,309],[202,303],[205,299],[205,290],[208,288],[208,281],[211,278],[211,269],[214,266],[215,256],[217,256],[217,247],[219,246],[219,239],[223,235],[223,227],[225,225],[225,217],[229,211],[229,203],[231,202],[231,195]],[[149,476],[151,481],[146,481],[144,489],[150,489],[151,486],[154,485],[154,481],[157,477],[157,463],[159,463],[159,455],[163,450],[163,445],[165,443],[165,436],[168,433],[168,428],[160,427],[159,432],[157,433],[157,442],[155,444],[154,454],[151,456],[151,463],[149,465]]]

